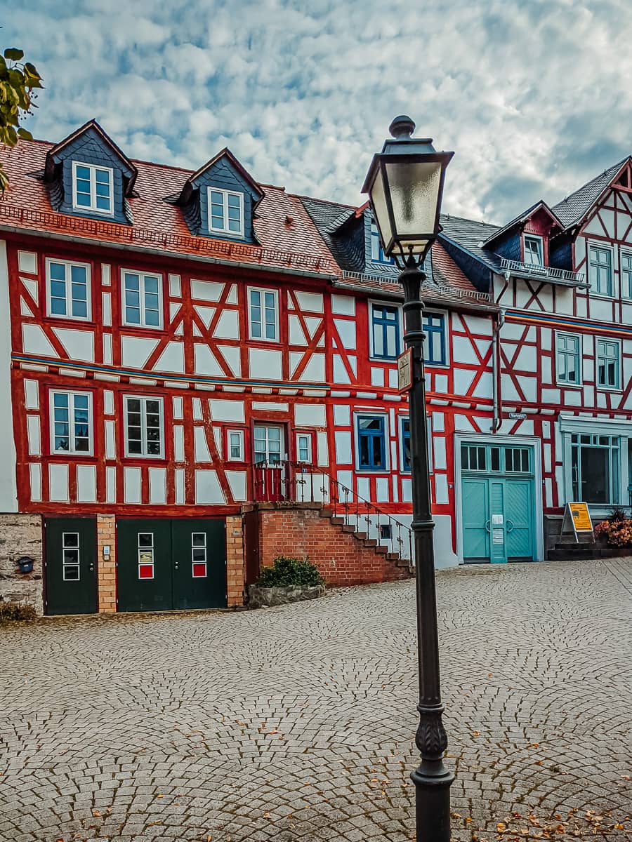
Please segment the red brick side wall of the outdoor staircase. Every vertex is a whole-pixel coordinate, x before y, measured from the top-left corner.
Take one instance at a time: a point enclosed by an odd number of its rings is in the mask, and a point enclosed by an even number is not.
[[[329,585],[390,582],[406,577],[370,546],[321,517],[320,509],[260,508],[259,558],[268,567],[276,556],[308,558]]]

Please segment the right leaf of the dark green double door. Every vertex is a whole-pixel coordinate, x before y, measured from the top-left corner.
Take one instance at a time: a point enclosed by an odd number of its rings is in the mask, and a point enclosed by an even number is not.
[[[174,608],[226,605],[226,521],[171,521]]]

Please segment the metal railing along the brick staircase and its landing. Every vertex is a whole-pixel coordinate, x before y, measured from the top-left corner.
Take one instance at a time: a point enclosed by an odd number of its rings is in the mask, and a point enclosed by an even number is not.
[[[391,552],[398,552],[415,563],[413,555],[413,533],[392,514],[384,512],[370,500],[361,497],[351,488],[315,465],[307,462],[290,460],[254,462],[253,488],[254,500],[269,503],[318,503],[332,509],[335,517],[342,517],[344,525],[360,526],[361,520],[367,523],[367,537],[370,536],[372,520],[377,527],[378,545],[390,542]],[[266,476],[265,471],[276,469],[276,477]],[[354,520],[355,519],[355,520]],[[382,526],[389,526],[389,537],[382,536]],[[360,531],[358,529],[358,531]],[[395,549],[396,547],[396,549]]]

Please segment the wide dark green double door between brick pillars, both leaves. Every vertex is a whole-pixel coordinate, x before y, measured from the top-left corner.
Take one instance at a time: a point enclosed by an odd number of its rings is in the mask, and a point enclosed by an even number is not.
[[[117,520],[118,610],[226,605],[225,521]]]

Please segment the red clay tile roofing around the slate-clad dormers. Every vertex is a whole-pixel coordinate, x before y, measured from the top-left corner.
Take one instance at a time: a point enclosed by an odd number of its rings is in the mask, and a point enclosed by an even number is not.
[[[182,210],[164,199],[179,195],[192,171],[147,161],[131,162],[138,169],[137,195],[128,199],[133,226],[57,213],[51,207],[46,184],[37,177],[37,173],[45,167],[46,153],[53,147],[55,144],[46,141],[20,141],[17,147],[2,152],[9,186],[0,198],[0,225],[34,233],[66,233],[104,243],[159,248],[222,261],[265,265],[270,269],[342,277],[342,270],[335,263],[300,198],[288,194],[284,188],[269,184],[260,184],[264,196],[254,217],[254,230],[260,246],[191,235]],[[348,207],[353,210],[351,205]],[[364,207],[359,210],[364,210]],[[442,288],[463,290],[466,297],[475,292],[438,242],[432,247],[432,261],[434,274],[437,274],[437,282]],[[374,285],[393,286],[388,282],[380,284],[377,279],[367,279],[366,275],[358,280],[360,285],[369,288]]]

